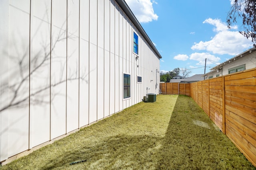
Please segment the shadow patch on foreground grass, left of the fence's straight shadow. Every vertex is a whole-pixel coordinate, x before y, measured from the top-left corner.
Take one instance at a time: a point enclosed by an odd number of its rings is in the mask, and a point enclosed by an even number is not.
[[[148,135],[125,136],[117,135],[94,146],[80,147],[66,152],[58,158],[48,160],[44,170],[70,169],[141,169],[156,166],[155,153],[159,148],[159,137]],[[86,145],[86,144],[85,144]],[[70,162],[81,161],[70,165]]]

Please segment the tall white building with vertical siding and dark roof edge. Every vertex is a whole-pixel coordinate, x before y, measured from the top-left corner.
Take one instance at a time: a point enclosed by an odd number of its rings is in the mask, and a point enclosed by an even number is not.
[[[159,92],[162,57],[124,0],[1,0],[0,14],[0,162]]]

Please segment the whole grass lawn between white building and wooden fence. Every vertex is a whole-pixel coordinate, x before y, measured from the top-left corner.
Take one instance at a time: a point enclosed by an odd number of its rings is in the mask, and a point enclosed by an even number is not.
[[[124,109],[0,169],[256,170],[192,98],[176,95]]]

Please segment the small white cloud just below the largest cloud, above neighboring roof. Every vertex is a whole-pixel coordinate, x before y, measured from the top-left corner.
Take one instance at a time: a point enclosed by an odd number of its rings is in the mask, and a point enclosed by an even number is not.
[[[211,55],[209,53],[193,53],[190,55],[190,60],[195,60],[195,61],[199,61],[199,63],[197,63],[197,65],[204,65],[205,64],[205,59],[209,59],[210,61],[214,61],[214,62],[219,62],[220,61],[220,57],[216,57],[214,55]],[[206,60],[206,64],[210,65],[213,64],[212,62],[210,62],[209,60]]]

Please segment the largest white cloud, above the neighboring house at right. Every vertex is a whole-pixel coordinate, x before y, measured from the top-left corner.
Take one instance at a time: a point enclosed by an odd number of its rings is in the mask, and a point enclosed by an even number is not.
[[[221,20],[208,18],[203,23],[214,25],[213,31],[217,33],[210,41],[194,43],[191,47],[193,50],[206,50],[221,55],[237,55],[253,45],[250,39],[247,39],[238,31],[230,31],[226,23],[221,22]],[[234,26],[233,29],[237,29],[237,26]]]

